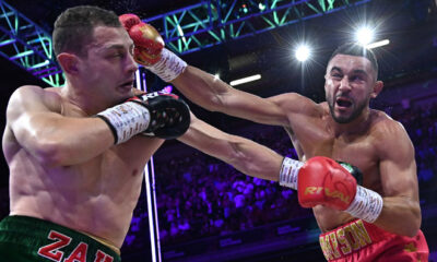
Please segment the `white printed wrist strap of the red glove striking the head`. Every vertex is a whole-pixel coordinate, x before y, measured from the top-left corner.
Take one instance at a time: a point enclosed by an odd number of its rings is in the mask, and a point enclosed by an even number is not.
[[[153,66],[144,66],[165,82],[172,82],[187,68],[187,62],[173,53],[170,50],[163,48],[161,59]]]

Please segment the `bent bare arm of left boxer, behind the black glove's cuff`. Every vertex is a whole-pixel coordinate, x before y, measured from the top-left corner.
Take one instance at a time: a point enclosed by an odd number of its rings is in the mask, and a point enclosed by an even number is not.
[[[37,160],[49,166],[73,165],[114,144],[111,131],[101,119],[55,112],[52,95],[38,86],[23,86],[11,96],[7,109],[7,128]]]

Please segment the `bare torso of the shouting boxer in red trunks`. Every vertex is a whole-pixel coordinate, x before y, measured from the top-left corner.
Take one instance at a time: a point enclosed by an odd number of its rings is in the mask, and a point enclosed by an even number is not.
[[[331,127],[332,118],[327,104],[320,104],[320,115],[308,117],[306,115],[290,116],[292,129],[286,128],[299,159],[306,160],[314,156],[328,156],[335,160],[350,163],[363,172],[363,186],[383,195],[379,175],[378,122],[389,120],[382,112],[370,110],[367,121],[361,122],[353,132],[335,133]],[[305,124],[303,124],[303,122]],[[293,124],[295,123],[295,124]],[[314,214],[322,231],[333,229],[352,219],[345,212],[318,205]]]

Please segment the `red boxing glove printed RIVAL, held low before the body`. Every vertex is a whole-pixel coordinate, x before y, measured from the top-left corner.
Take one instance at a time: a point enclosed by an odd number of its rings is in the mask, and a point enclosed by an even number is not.
[[[355,178],[328,157],[308,159],[298,174],[297,192],[303,207],[322,204],[344,211],[354,200],[356,190]]]

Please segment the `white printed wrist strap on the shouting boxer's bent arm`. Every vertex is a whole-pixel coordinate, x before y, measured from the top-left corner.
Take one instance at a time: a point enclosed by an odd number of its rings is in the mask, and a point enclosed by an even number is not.
[[[382,211],[382,196],[379,193],[357,186],[355,198],[345,211],[354,217],[374,223]]]

